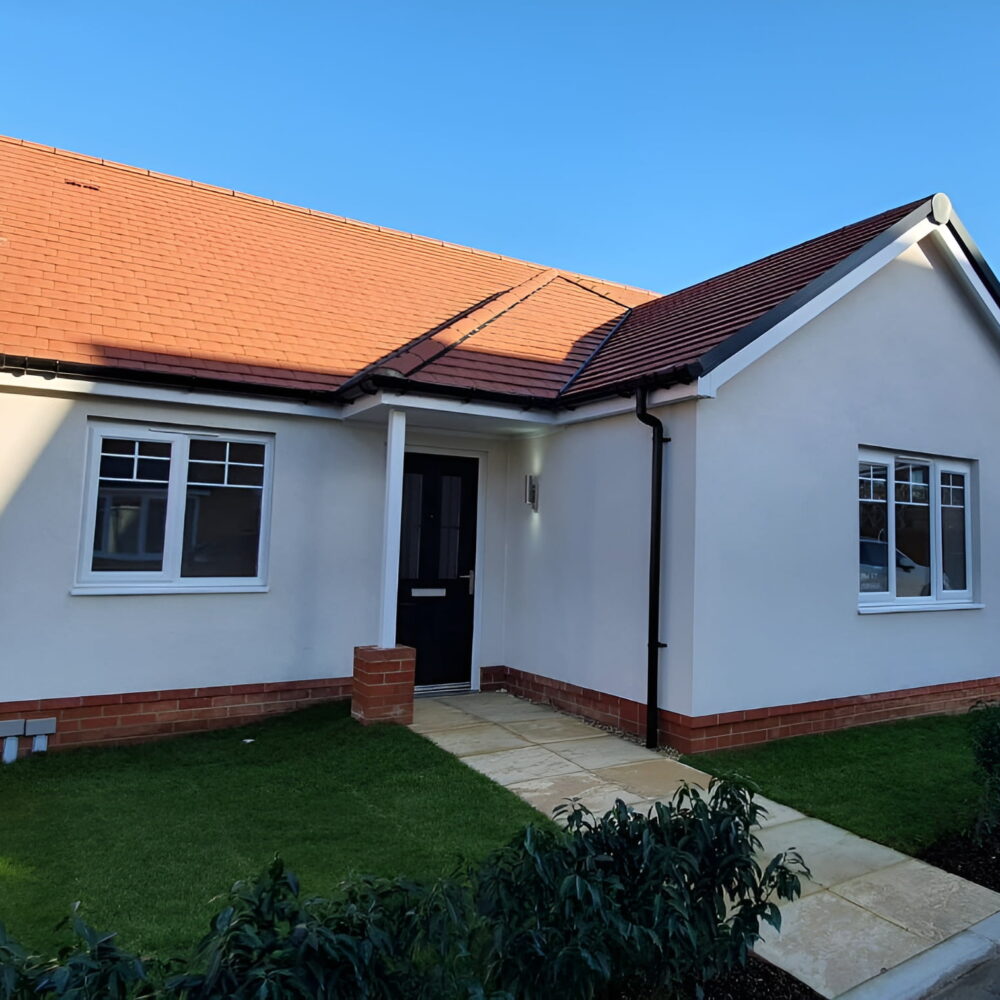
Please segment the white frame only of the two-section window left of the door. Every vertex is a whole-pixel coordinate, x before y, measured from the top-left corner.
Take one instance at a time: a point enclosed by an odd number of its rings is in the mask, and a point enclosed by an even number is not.
[[[167,514],[163,539],[163,568],[160,570],[93,569],[94,534],[97,518],[102,441],[119,438],[134,441],[168,442],[170,474],[167,480]],[[261,486],[260,532],[257,540],[257,575],[252,577],[181,576],[184,519],[188,487],[188,452],[192,440],[232,441],[264,447]],[[271,490],[274,464],[274,435],[230,431],[216,427],[156,426],[136,422],[90,421],[83,477],[83,509],[78,547],[76,579],[71,594],[172,594],[172,593],[264,593],[268,588],[270,550]]]

